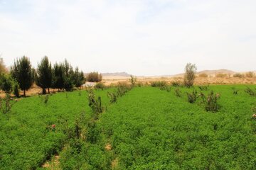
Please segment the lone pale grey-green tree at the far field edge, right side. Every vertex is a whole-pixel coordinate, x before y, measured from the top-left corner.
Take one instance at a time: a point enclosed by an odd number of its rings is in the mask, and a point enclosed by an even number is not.
[[[185,67],[184,85],[188,88],[193,86],[193,81],[196,78],[196,64],[188,63]]]

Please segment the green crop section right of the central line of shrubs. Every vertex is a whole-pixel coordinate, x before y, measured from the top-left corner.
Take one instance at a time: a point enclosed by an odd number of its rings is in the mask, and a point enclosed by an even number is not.
[[[177,87],[182,100],[149,86],[134,88],[100,116],[93,145],[83,145],[75,157],[66,154],[79,159],[66,167],[255,169],[256,117],[251,119],[250,109],[255,98],[245,93],[233,96],[231,87],[210,86],[200,92]],[[241,91],[244,86],[235,88]],[[212,91],[219,91],[221,98]],[[200,105],[187,102],[186,93],[196,94],[195,103],[203,100],[201,93],[206,102],[217,97],[222,107],[218,114],[207,114]]]

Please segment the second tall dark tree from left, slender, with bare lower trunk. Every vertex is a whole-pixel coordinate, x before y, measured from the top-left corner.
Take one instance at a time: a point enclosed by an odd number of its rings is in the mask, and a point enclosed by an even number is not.
[[[41,63],[38,64],[38,69],[36,70],[36,85],[40,86],[42,89],[48,89],[48,94],[50,94],[51,84],[52,67],[46,56],[43,57]]]

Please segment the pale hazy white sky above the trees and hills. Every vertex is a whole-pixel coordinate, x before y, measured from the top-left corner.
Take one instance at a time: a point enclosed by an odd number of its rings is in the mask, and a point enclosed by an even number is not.
[[[6,65],[45,55],[84,72],[255,70],[255,0],[0,0]]]

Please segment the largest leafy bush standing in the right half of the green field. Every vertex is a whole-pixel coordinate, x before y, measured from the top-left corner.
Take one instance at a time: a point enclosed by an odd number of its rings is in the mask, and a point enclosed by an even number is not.
[[[218,103],[218,99],[220,98],[220,94],[214,94],[213,91],[210,91],[210,94],[207,96],[206,100],[206,111],[210,111],[213,113],[218,112],[220,109],[220,104]]]

